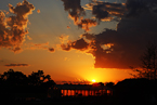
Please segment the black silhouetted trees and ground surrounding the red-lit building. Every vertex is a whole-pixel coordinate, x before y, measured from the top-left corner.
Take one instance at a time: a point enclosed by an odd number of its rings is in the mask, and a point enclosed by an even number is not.
[[[113,95],[62,97],[42,70],[26,76],[10,69],[0,75],[0,105],[157,105],[157,79],[125,79],[107,87]],[[50,88],[53,94],[48,99]]]

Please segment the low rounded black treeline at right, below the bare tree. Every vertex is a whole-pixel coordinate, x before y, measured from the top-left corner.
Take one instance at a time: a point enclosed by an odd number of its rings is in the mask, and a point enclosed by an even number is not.
[[[157,105],[157,79],[125,79],[113,90],[110,105]]]

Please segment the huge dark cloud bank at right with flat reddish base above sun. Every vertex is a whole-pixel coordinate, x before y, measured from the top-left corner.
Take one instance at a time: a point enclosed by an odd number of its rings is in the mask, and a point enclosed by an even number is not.
[[[77,4],[80,6],[80,3]],[[118,18],[117,30],[105,29],[97,35],[86,32],[82,38],[62,44],[63,50],[77,49],[91,53],[95,57],[96,68],[139,67],[140,56],[146,45],[157,44],[157,1],[127,0],[126,4],[94,1],[89,5],[92,6],[92,14],[97,22]]]

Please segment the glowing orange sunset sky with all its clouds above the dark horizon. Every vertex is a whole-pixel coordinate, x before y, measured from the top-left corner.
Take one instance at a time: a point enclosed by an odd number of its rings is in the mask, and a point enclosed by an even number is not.
[[[0,74],[117,82],[156,40],[157,0],[0,0]]]

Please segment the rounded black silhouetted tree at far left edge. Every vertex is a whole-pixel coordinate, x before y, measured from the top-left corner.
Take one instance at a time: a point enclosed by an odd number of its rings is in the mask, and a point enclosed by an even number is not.
[[[13,101],[19,95],[25,95],[27,77],[21,71],[9,69],[0,77],[1,101]]]

